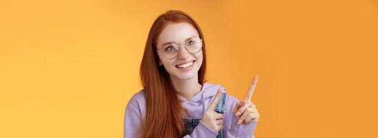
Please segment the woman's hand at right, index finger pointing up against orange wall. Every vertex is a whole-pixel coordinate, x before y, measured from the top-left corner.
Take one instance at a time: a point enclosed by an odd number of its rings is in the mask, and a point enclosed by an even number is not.
[[[245,99],[237,101],[235,107],[233,108],[233,114],[238,119],[238,124],[247,124],[249,121],[259,121],[260,113],[256,108],[255,104],[251,102],[251,97],[253,95],[253,90],[255,90],[256,83],[258,83],[258,76],[253,77],[251,86],[249,86],[248,93]]]

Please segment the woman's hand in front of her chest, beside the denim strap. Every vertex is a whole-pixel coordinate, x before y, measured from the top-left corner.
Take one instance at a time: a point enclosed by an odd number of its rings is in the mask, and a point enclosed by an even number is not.
[[[221,94],[222,90],[218,89],[216,97],[211,101],[209,108],[204,112],[201,119],[201,121],[213,130],[213,132],[219,132],[219,130],[223,129],[223,115],[215,111]]]

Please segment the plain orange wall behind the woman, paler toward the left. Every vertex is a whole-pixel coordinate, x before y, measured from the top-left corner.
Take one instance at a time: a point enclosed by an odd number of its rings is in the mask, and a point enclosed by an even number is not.
[[[256,137],[378,137],[378,1],[1,1],[0,137],[123,137],[154,19],[198,21]]]

